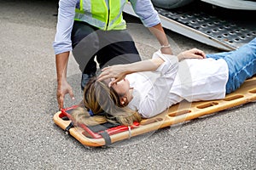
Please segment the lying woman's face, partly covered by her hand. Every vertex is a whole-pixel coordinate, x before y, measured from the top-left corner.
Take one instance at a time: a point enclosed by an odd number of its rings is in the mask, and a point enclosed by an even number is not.
[[[111,79],[111,82],[112,81],[113,81],[113,79]],[[130,82],[127,79],[124,78],[123,80],[113,84],[112,88],[117,94],[119,94],[121,100],[123,98],[125,100],[125,102],[126,102],[126,100],[127,100],[127,102],[131,101],[133,88],[130,87]]]

